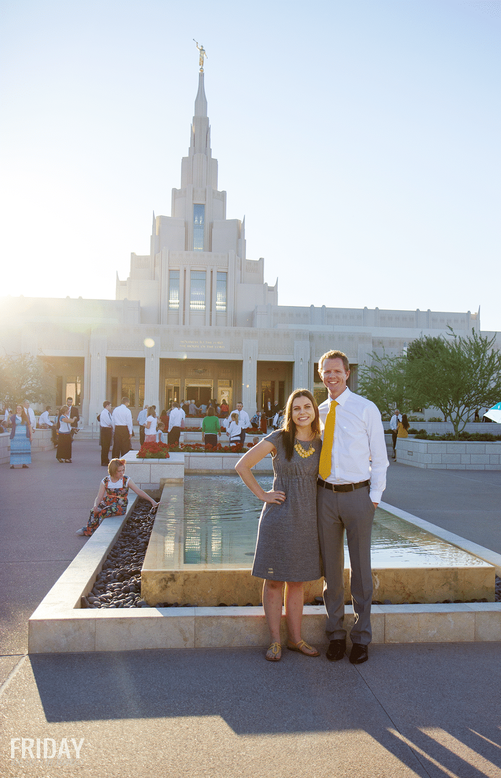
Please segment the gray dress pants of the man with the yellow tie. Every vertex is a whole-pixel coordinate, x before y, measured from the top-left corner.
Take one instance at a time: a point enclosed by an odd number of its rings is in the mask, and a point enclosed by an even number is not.
[[[369,487],[354,492],[332,492],[317,487],[318,538],[324,566],[325,633],[329,640],[343,640],[344,531],[350,552],[350,591],[355,623],[352,643],[371,643],[371,533],[374,504]]]

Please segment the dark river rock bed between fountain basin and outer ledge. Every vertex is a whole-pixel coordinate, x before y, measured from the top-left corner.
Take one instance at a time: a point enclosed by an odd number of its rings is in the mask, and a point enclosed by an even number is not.
[[[139,499],[123,530],[120,532],[115,545],[106,557],[103,569],[96,578],[96,584],[86,597],[81,598],[82,608],[149,608],[148,603],[141,599],[141,567],[144,555],[148,548],[151,530],[155,521],[157,509],[151,508],[151,503],[146,499]],[[496,576],[495,601],[501,602],[501,578]],[[443,600],[444,604],[451,600]],[[454,600],[464,602],[464,600]],[[468,602],[487,602],[482,600],[469,600]],[[421,605],[409,601],[403,605]],[[231,603],[229,605],[237,605]],[[246,605],[253,605],[252,602]],[[256,603],[256,605],[258,605]],[[259,605],[262,605],[259,602]],[[323,605],[323,598],[317,597],[311,605]],[[373,605],[392,605],[391,601],[374,600]],[[228,603],[221,602],[219,607],[227,607]],[[186,602],[158,602],[155,608],[192,608],[193,604]]]

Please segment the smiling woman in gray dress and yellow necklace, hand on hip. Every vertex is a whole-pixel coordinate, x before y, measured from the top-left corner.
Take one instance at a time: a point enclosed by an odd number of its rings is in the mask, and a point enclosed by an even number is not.
[[[297,389],[287,400],[283,428],[267,435],[235,464],[245,485],[265,503],[252,575],[265,579],[263,608],[271,639],[266,659],[271,662],[282,657],[280,619],[284,600],[287,648],[318,657],[318,651],[301,638],[301,618],[304,581],[322,575],[316,503],[321,448],[318,406],[308,389]],[[266,454],[273,457],[270,492],[259,486],[251,470]]]

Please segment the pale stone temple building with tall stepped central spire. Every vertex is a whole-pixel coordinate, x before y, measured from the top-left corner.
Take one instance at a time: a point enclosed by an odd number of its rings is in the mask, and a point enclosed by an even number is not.
[[[117,405],[124,395],[134,420],[144,402],[159,412],[172,400],[226,398],[252,415],[284,405],[295,387],[323,400],[316,369],[329,349],[346,352],[356,390],[357,367],[374,350],[402,353],[447,325],[464,335],[480,329],[469,311],[280,306],[263,258],[246,257],[245,220],[227,219],[226,192],[217,189],[204,72],[171,216],[153,216],[150,253],[131,254],[116,298],[2,299],[5,351],[50,360],[47,401],[56,408],[75,398],[85,424],[103,400]]]

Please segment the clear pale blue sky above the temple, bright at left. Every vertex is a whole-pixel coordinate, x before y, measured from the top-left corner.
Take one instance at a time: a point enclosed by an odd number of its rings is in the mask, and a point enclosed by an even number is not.
[[[501,0],[3,0],[2,293],[115,297],[170,215],[198,51],[281,305],[501,330]]]

